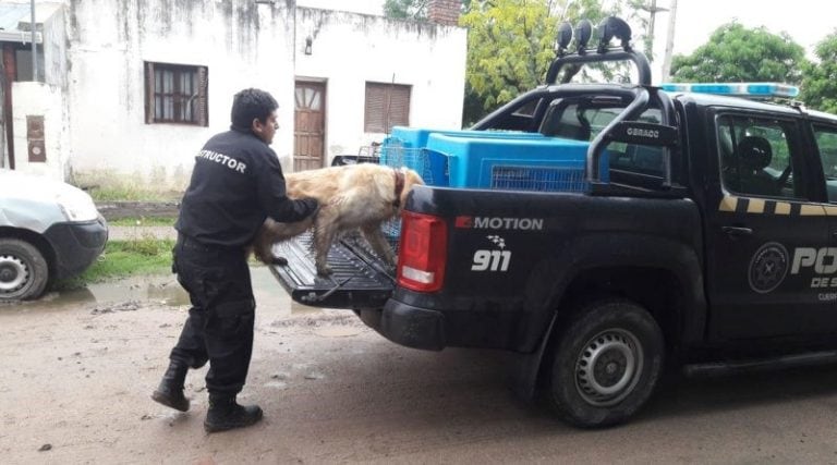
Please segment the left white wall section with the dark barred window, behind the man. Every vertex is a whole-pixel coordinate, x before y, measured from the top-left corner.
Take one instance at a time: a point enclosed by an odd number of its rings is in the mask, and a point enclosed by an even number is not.
[[[292,95],[292,22],[284,2],[84,0],[70,24],[71,148],[80,175],[130,175],[183,187],[194,156],[230,125],[232,96],[258,87]],[[145,123],[144,62],[208,69],[209,126]],[[274,148],[292,140],[293,109]],[[289,149],[277,149],[288,157]],[[102,173],[106,172],[106,173]]]

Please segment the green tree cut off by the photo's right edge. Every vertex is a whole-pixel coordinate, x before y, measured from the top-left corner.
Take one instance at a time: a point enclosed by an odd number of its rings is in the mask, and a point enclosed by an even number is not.
[[[802,101],[811,108],[837,113],[837,32],[816,45],[817,63],[808,63],[802,78]]]

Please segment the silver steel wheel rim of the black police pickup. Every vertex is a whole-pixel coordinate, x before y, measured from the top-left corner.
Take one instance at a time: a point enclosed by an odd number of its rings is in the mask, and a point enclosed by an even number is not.
[[[639,382],[642,359],[635,335],[621,329],[603,331],[584,344],[575,362],[575,389],[591,405],[617,404]]]

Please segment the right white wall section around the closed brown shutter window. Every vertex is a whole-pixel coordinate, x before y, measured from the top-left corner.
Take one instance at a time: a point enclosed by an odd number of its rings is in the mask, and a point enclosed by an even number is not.
[[[299,8],[295,41],[296,75],[326,81],[329,159],[386,136],[364,133],[366,82],[412,86],[411,126],[461,129],[465,29]]]

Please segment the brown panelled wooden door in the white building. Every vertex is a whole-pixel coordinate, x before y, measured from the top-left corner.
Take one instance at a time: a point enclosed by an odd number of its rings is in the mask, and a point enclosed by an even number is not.
[[[296,82],[293,123],[293,171],[324,167],[326,85]]]

